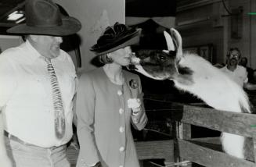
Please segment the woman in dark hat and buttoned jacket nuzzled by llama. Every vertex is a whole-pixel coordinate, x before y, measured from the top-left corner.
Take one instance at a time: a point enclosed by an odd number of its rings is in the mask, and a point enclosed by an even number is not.
[[[115,23],[92,47],[105,65],[80,79],[77,167],[139,167],[131,123],[137,130],[146,126],[142,87],[139,76],[122,69],[130,63],[129,46],[139,42],[139,34]]]

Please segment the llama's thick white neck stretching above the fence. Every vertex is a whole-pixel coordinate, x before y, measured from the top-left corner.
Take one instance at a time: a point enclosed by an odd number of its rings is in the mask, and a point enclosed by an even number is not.
[[[179,74],[175,79],[178,89],[188,91],[218,110],[243,112],[250,111],[247,95],[228,76],[211,63],[197,55],[186,55],[179,66],[193,71],[189,76]]]

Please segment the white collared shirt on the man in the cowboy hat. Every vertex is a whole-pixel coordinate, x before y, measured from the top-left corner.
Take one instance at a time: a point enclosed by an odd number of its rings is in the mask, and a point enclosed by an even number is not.
[[[47,64],[29,41],[0,55],[0,108],[5,130],[40,147],[66,144],[72,137],[73,98],[77,80],[70,56],[60,50],[52,59],[66,119],[62,140],[55,136],[52,87]]]

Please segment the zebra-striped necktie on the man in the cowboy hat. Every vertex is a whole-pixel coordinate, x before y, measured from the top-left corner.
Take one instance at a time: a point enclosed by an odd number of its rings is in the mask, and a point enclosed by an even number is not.
[[[65,133],[65,115],[63,110],[63,101],[61,99],[59,84],[58,84],[56,73],[52,66],[51,59],[45,58],[45,62],[47,62],[47,70],[49,73],[51,86],[52,86],[55,133],[56,133],[56,137],[58,139],[61,139],[63,138]]]

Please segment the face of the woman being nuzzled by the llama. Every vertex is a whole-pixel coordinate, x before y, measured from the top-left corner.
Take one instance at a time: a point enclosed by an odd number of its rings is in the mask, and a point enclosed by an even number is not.
[[[128,66],[131,60],[131,47],[120,48],[117,51],[111,53],[111,59],[113,62],[120,66]]]

